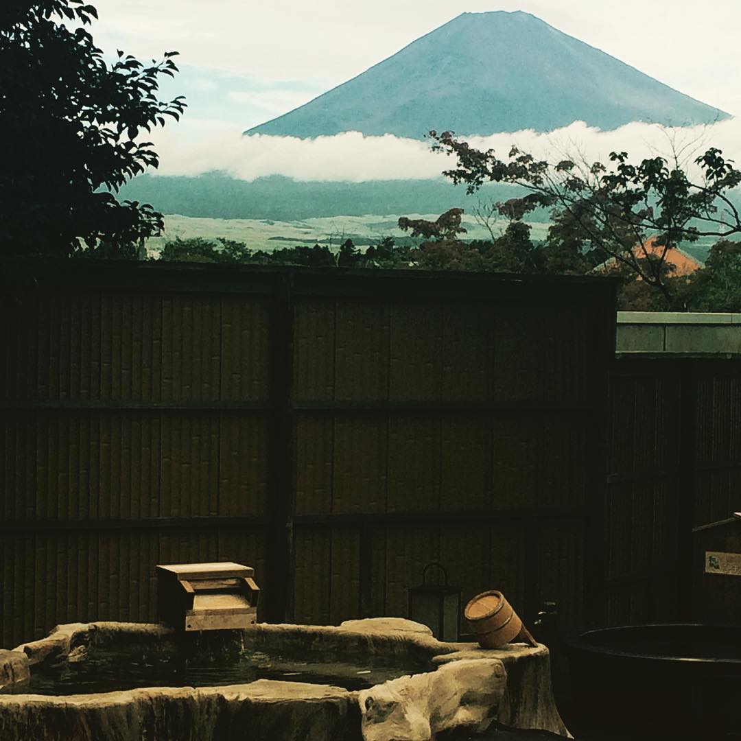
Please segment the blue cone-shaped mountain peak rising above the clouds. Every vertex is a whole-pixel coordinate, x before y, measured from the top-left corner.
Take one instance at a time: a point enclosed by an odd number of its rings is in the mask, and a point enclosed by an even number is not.
[[[677,92],[529,13],[462,13],[399,53],[245,133],[308,138],[361,131],[420,139],[576,120],[708,123],[728,114]]]

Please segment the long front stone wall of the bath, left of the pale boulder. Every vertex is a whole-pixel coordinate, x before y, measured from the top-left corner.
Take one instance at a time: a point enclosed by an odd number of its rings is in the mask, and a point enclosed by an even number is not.
[[[3,741],[360,741],[356,693],[272,682],[0,697]]]

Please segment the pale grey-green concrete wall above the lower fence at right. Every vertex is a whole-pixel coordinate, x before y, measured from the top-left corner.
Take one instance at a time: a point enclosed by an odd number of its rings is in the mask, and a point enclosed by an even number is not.
[[[741,314],[619,311],[618,353],[741,354]]]

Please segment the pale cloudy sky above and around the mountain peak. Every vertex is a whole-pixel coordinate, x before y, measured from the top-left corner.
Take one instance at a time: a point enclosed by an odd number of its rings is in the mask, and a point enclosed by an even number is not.
[[[225,137],[236,142],[242,130],[308,102],[466,11],[525,10],[682,93],[741,114],[741,0],[91,1],[100,16],[93,39],[105,52],[121,48],[142,60],[180,52],[182,71],[162,95],[183,93],[189,107],[176,130],[168,123],[155,137],[165,172],[193,171],[194,161],[196,170],[208,169]],[[259,151],[249,145],[250,158],[278,162],[280,142],[263,144]],[[343,151],[347,144],[345,138]],[[371,149],[377,159],[378,147]],[[311,158],[302,152],[294,146],[288,157],[294,164]],[[190,170],[181,167],[184,158]]]

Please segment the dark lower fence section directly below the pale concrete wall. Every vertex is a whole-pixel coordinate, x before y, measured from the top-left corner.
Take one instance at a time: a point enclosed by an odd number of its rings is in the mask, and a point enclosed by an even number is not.
[[[691,529],[741,508],[741,361],[620,358],[611,376],[608,622],[690,619]]]

